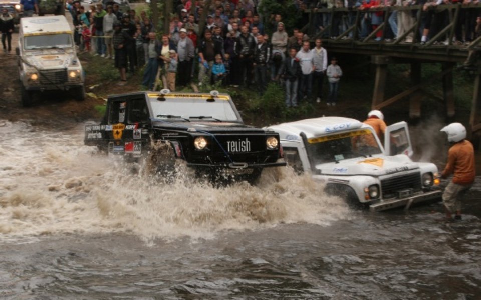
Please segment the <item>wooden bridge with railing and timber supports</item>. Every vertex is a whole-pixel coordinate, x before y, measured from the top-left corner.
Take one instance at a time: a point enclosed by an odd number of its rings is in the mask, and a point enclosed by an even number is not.
[[[481,62],[477,57],[481,51],[481,37],[475,38],[468,45],[455,45],[453,37],[462,10],[479,9],[481,4],[448,4],[429,7],[423,10],[422,5],[413,6],[383,6],[372,7],[369,9],[359,10],[350,8],[329,8],[329,9],[311,9],[307,10],[309,14],[309,22],[302,32],[308,34],[311,40],[317,38],[323,40],[323,46],[330,52],[348,53],[356,55],[371,56],[371,63],[376,65],[376,76],[374,81],[374,92],[372,97],[372,109],[381,109],[398,100],[409,98],[409,115],[412,118],[420,117],[420,104],[422,98],[423,86],[428,82],[439,80],[442,82],[443,98],[446,103],[446,114],[452,117],[455,114],[454,93],[453,93],[453,68],[457,64],[469,65],[469,69],[474,71],[474,91],[472,96],[471,115],[469,119],[469,133],[481,131]],[[382,23],[369,35],[360,38],[361,19],[365,13],[382,11],[384,18]],[[409,28],[404,28],[404,33],[392,41],[374,41],[376,34],[383,32],[382,36],[386,36],[388,30],[388,19],[394,12],[409,12],[415,15],[415,22]],[[424,45],[420,43],[419,29],[422,25],[423,14],[434,13],[439,15],[444,13],[448,16],[448,22]],[[319,30],[315,28],[316,14],[334,15],[350,15],[353,18],[352,25],[344,32],[339,32],[335,26],[335,18],[330,18],[330,23]],[[333,33],[338,31],[338,35],[333,37]],[[414,33],[414,34],[413,34]],[[413,36],[412,42],[403,42],[408,36]],[[443,43],[444,41],[446,43]],[[386,89],[387,67],[393,63],[410,64],[411,66],[411,82],[412,86],[389,98],[385,99],[384,91]],[[442,70],[435,76],[421,81],[421,67],[423,63],[440,63]]]

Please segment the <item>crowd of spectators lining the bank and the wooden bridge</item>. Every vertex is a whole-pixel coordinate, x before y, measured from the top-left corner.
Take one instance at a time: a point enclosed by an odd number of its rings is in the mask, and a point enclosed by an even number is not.
[[[388,26],[376,33],[374,42],[397,39],[415,22],[415,10],[375,11],[383,6],[423,5],[417,40],[424,45],[449,20],[449,11],[435,11],[432,6],[455,3],[456,0],[296,0],[301,12],[299,26],[309,18],[303,12],[314,11],[313,34],[320,37],[311,46],[310,38],[297,28],[286,28],[283,16],[273,14],[261,18],[257,1],[213,0],[209,7],[204,1],[180,0],[170,18],[169,32],[161,41],[145,11],[120,13],[118,4],[105,2],[84,11],[74,1],[70,11],[74,25],[81,28],[75,40],[82,50],[105,58],[115,57],[121,81],[126,72],[146,65],[142,84],[149,90],[176,87],[225,84],[234,87],[256,88],[263,95],[268,83],[275,81],[286,88],[286,105],[297,106],[299,101],[321,102],[323,81],[328,77],[327,105],[335,105],[339,79],[342,76],[337,60],[329,60],[322,39],[336,38],[351,27],[360,11],[359,31],[351,30],[343,39],[366,38],[388,18]],[[463,3],[468,3],[464,0]],[[474,3],[476,3],[474,1]],[[346,11],[323,11],[324,8],[347,7]],[[308,10],[309,9],[309,10]],[[204,11],[207,10],[206,13]],[[481,18],[479,8],[462,9],[453,43],[469,43],[478,36]],[[386,13],[386,15],[384,15]],[[205,15],[204,22],[199,22]],[[266,20],[266,23],[262,21]],[[304,23],[303,23],[304,22]],[[203,24],[202,27],[199,24]],[[324,30],[332,25],[329,30]],[[123,32],[122,34],[117,33]],[[289,33],[292,30],[292,35]],[[272,36],[268,33],[272,32]],[[154,34],[152,34],[154,33]],[[82,38],[81,38],[82,37]],[[414,32],[402,42],[412,43]],[[174,62],[175,61],[175,62]],[[329,66],[335,70],[332,76]],[[331,67],[332,66],[332,67]],[[315,92],[313,92],[315,91]]]

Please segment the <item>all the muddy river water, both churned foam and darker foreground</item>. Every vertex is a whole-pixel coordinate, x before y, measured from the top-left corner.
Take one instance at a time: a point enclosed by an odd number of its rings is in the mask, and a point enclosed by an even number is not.
[[[80,124],[0,121],[0,157],[2,299],[481,299],[481,180],[444,223],[439,203],[373,214],[287,169],[165,185]]]

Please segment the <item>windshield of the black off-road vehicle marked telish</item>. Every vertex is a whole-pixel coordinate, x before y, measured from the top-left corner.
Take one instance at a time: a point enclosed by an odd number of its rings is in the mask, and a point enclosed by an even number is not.
[[[159,101],[151,98],[153,116],[159,119],[190,121],[240,121],[228,100],[207,101],[204,97],[165,97]]]

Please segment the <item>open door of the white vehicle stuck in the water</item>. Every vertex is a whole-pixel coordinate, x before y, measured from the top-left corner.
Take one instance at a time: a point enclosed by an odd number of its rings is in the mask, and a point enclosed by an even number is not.
[[[384,134],[384,150],[388,156],[405,154],[411,157],[413,155],[409,129],[405,121],[387,126]]]

